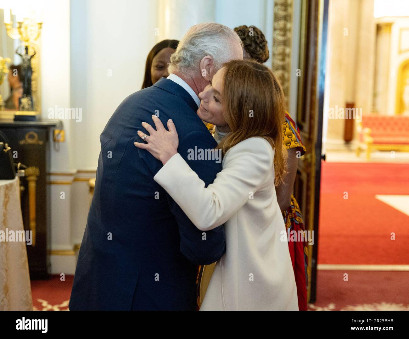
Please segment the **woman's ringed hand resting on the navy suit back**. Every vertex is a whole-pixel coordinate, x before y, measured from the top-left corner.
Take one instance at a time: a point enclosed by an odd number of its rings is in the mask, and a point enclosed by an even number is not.
[[[164,128],[162,121],[160,121],[156,115],[152,115],[152,120],[155,123],[156,130],[148,123],[142,122],[142,127],[144,127],[149,134],[138,131],[139,137],[141,137],[146,144],[134,142],[134,145],[138,148],[148,150],[148,152],[160,160],[162,164],[166,164],[173,155],[178,153],[178,133],[176,132],[176,127],[172,119],[169,119],[167,123],[169,131]]]

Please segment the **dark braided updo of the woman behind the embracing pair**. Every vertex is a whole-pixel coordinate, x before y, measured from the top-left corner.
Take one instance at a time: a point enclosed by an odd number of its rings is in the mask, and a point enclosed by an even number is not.
[[[265,63],[269,58],[267,40],[256,26],[238,26],[234,29],[243,42],[245,51],[258,63]]]

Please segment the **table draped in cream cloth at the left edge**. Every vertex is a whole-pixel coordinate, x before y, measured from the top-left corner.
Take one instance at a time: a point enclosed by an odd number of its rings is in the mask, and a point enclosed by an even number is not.
[[[20,181],[0,180],[0,310],[32,310],[24,231],[20,208]],[[7,236],[6,236],[7,234]],[[12,235],[16,235],[11,238]],[[13,239],[14,241],[6,241]]]

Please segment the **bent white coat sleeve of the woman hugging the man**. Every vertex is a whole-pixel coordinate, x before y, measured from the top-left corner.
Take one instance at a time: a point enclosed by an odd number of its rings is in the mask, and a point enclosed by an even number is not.
[[[232,147],[213,184],[205,183],[180,154],[175,154],[153,178],[202,231],[224,224],[274,171],[269,142],[252,137]]]

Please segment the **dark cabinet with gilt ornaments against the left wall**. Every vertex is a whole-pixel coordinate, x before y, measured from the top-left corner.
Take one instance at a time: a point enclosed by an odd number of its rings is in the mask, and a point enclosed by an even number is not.
[[[27,245],[31,279],[47,279],[50,272],[46,176],[50,164],[49,129],[55,125],[54,121],[0,120],[0,130],[9,139],[14,162],[27,166],[25,177],[20,177],[20,196],[24,229],[33,231],[33,244]]]

